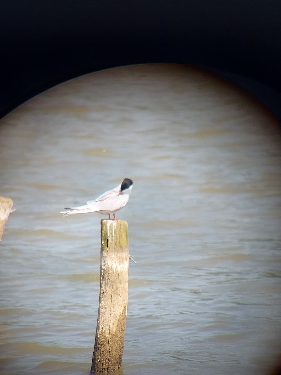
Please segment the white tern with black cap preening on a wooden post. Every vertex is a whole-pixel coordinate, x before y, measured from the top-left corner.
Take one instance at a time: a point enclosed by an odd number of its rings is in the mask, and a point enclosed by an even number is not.
[[[97,212],[102,215],[108,215],[109,220],[111,220],[110,214],[113,213],[114,220],[117,220],[115,212],[126,206],[132,189],[133,181],[130,178],[125,178],[121,184],[103,193],[96,200],[88,201],[84,206],[64,208],[65,211],[60,213],[68,216],[73,213]]]

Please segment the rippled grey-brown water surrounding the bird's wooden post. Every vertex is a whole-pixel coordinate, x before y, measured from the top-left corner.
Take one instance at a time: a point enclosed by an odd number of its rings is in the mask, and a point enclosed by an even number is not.
[[[1,374],[87,374],[99,299],[98,214],[134,188],[129,305],[116,374],[270,374],[281,342],[280,124],[186,66],[103,71],[0,121]]]

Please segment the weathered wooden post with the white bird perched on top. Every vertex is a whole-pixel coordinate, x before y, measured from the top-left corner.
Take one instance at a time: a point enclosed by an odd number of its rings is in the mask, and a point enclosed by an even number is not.
[[[127,318],[128,224],[101,220],[101,226],[99,312],[90,374],[120,368]]]

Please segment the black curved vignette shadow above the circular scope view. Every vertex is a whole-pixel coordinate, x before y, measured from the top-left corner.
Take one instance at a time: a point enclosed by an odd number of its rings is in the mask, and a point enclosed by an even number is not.
[[[1,1],[0,117],[83,74],[187,63],[257,93],[281,119],[280,15],[279,0]]]

